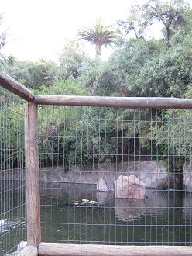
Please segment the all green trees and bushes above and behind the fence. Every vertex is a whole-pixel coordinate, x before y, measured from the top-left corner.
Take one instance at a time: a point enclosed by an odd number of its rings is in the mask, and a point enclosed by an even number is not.
[[[93,28],[79,31],[79,38],[94,43],[98,56],[95,60],[81,50],[79,41],[66,40],[59,64],[44,59],[33,63],[1,56],[0,68],[36,94],[190,98],[191,11],[183,0],[149,0],[145,5],[132,6],[127,19],[117,22],[118,29],[104,26],[103,20],[98,19]],[[2,16],[0,25],[1,22]],[[162,27],[159,39],[150,32],[150,27],[157,22]],[[1,39],[0,50],[5,33]],[[108,61],[101,61],[101,47],[111,42],[114,53]],[[8,109],[15,111],[20,107],[17,102],[6,104]],[[97,116],[102,121],[96,123]],[[104,111],[74,107],[72,111],[67,106],[62,110],[60,107],[42,107],[39,109],[39,161],[41,164],[58,164],[57,156],[60,155],[59,164],[63,164],[62,156],[66,154],[63,165],[68,169],[70,164],[114,161],[120,153],[122,157],[125,152],[136,152],[134,147],[144,153],[150,149],[158,157],[175,156],[178,161],[190,159],[191,118],[190,110],[184,109],[118,109],[116,112],[110,108]],[[4,127],[2,119],[1,116],[1,127],[7,129],[5,137],[9,146],[2,140],[1,144],[2,148],[9,148],[14,145],[19,128],[13,121],[11,135],[10,127]],[[123,140],[118,140],[118,135]],[[136,146],[133,138],[136,138]],[[22,145],[14,147],[23,148]],[[21,154],[19,150],[18,154]],[[3,153],[1,161],[5,158],[8,156]],[[16,161],[13,165],[16,166]],[[173,163],[170,165],[176,168]]]

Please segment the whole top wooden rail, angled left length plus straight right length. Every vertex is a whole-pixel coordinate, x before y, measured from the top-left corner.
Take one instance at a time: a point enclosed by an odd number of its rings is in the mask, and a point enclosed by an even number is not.
[[[0,71],[0,85],[28,102],[44,105],[101,106],[121,108],[192,109],[192,99],[163,97],[99,97],[71,95],[34,95],[9,75]]]

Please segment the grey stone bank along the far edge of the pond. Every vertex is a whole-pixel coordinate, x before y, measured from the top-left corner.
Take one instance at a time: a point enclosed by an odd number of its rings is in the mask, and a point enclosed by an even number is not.
[[[114,191],[115,181],[120,175],[135,175],[139,181],[152,189],[176,189],[180,185],[180,176],[187,191],[192,191],[191,164],[185,164],[183,173],[167,171],[161,161],[135,161],[112,164],[94,164],[91,168],[71,165],[70,171],[63,171],[63,166],[39,168],[40,182],[59,182],[98,185],[102,181],[106,191]],[[25,169],[1,171],[2,180],[25,181]]]

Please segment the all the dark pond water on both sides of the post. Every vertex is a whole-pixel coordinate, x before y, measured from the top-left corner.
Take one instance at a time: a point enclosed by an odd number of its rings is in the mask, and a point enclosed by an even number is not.
[[[192,195],[148,189],[146,199],[115,199],[113,192],[94,186],[41,184],[42,240],[87,244],[192,245]],[[0,255],[26,240],[25,195],[6,192],[3,209],[10,207],[0,227]],[[9,195],[8,195],[9,194]],[[71,206],[95,200],[100,206]],[[1,215],[2,218],[2,215]],[[12,250],[16,251],[16,247]]]

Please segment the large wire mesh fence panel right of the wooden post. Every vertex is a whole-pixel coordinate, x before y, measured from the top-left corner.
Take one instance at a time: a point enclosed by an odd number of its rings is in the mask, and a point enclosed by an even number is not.
[[[191,245],[191,117],[39,106],[42,240]]]

